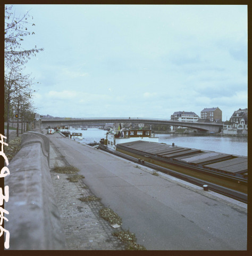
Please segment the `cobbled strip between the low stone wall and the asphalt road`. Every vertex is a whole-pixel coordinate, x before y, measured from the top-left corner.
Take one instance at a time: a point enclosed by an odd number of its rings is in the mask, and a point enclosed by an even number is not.
[[[66,165],[57,154],[57,149],[50,147],[50,168],[54,165]],[[70,174],[51,171],[55,199],[61,214],[66,237],[66,250],[124,250],[125,243],[112,234],[110,223],[99,217],[99,210],[104,206],[99,201],[82,202],[78,198],[93,195],[86,187],[85,179],[70,182]]]

